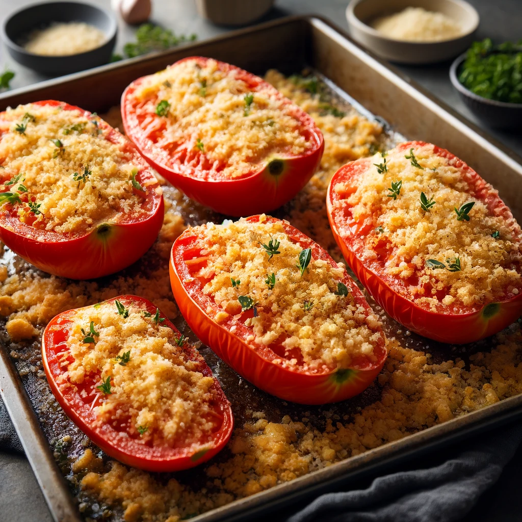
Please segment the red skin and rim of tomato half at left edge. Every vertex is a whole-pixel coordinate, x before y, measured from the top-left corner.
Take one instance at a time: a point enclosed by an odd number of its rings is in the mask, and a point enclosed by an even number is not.
[[[61,105],[64,110],[81,111],[86,118],[92,116],[88,111],[55,100],[35,105]],[[113,143],[125,139],[103,121],[99,127],[109,129],[108,138]],[[134,153],[133,162],[139,167],[136,179],[146,189],[146,216],[139,220],[123,216],[118,221],[100,223],[86,234],[73,236],[35,229],[0,208],[0,240],[40,270],[69,279],[94,279],[132,265],[156,240],[163,224],[164,203],[152,170],[129,141],[124,146]]]

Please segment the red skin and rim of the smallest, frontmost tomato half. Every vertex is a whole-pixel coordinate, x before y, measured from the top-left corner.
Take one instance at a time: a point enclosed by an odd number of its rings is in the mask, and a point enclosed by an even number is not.
[[[136,295],[122,295],[120,297],[105,301],[113,303],[120,301],[125,307],[135,305],[145,305],[146,310],[151,314],[156,313],[156,306],[147,299]],[[55,396],[56,400],[69,417],[90,440],[100,447],[107,455],[123,462],[127,466],[155,472],[180,471],[192,468],[205,462],[216,455],[228,442],[233,429],[233,416],[230,403],[224,395],[217,380],[213,385],[218,396],[217,412],[222,416],[221,429],[213,434],[211,443],[205,444],[205,449],[195,451],[189,448],[171,448],[168,446],[150,447],[137,442],[129,437],[125,432],[116,431],[111,425],[96,425],[96,416],[92,412],[90,402],[86,403],[81,399],[77,387],[70,384],[67,379],[62,379],[64,370],[58,361],[58,354],[62,355],[67,350],[65,344],[67,335],[67,324],[70,316],[78,309],[69,310],[58,314],[47,325],[42,336],[42,362],[45,375]],[[160,317],[165,321],[163,326],[168,326],[180,336],[176,327],[160,312]],[[198,361],[199,370],[205,376],[212,376],[212,371],[201,355],[193,348],[185,345],[188,357],[193,361]],[[207,449],[208,447],[208,449]]]

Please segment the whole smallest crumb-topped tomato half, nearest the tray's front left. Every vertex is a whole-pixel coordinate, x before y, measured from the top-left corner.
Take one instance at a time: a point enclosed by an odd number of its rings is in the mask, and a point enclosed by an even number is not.
[[[233,428],[205,360],[156,306],[122,295],[58,314],[42,360],[67,416],[111,457],[148,471],[191,468]]]

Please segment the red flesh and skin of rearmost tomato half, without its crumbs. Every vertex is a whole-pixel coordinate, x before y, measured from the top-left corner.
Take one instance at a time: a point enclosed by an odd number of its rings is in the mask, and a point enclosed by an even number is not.
[[[209,58],[188,57],[173,66],[187,60],[204,66]],[[274,210],[295,196],[317,170],[323,156],[323,135],[308,114],[263,79],[227,63],[218,62],[218,67],[224,72],[235,72],[236,78],[243,80],[250,91],[263,89],[288,105],[291,115],[301,123],[301,134],[313,146],[296,156],[275,151],[257,169],[236,179],[220,176],[224,165],[216,165],[203,152],[190,147],[189,136],[187,143],[173,144],[169,150],[157,145],[158,137],[167,125],[165,118],[146,110],[146,102],[135,97],[136,90],[148,76],[133,81],[123,93],[125,133],[152,167],[202,205],[229,216]],[[233,140],[234,136],[230,139]]]

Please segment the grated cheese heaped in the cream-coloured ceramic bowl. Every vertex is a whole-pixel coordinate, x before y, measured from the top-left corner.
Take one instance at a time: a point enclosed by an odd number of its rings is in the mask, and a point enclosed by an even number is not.
[[[371,26],[388,38],[407,42],[439,42],[462,34],[459,23],[449,16],[422,7],[407,7],[400,13],[377,18]]]

